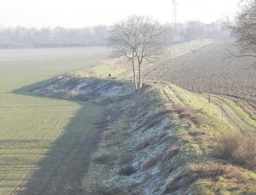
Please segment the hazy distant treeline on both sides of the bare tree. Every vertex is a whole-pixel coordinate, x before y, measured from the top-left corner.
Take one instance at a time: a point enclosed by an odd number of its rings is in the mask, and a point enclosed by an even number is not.
[[[174,39],[194,40],[219,38],[225,36],[219,22],[210,24],[200,21],[178,23],[176,27],[166,23],[170,31],[166,34],[166,44]],[[101,25],[85,28],[2,28],[0,29],[0,48],[54,48],[77,46],[104,46],[110,26]]]

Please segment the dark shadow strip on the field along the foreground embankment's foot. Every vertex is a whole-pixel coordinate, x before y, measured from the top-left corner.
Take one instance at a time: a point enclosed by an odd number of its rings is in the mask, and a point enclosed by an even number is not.
[[[88,119],[82,120],[87,112],[88,107],[83,107],[71,120],[66,132],[39,162],[40,169],[28,180],[27,190],[19,194],[77,194],[82,189],[81,181],[88,171],[90,155],[96,149],[96,135],[100,133],[92,126],[96,113],[87,114]],[[74,123],[79,123],[80,129],[74,128]]]

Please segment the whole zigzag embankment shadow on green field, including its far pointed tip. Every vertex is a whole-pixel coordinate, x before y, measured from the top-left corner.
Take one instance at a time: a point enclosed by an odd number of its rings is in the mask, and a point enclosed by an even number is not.
[[[38,96],[31,91],[39,86],[50,84],[53,80],[25,86],[14,90],[13,93],[48,98]],[[101,133],[101,129],[95,126],[95,122],[101,115],[102,107],[90,102],[75,101],[75,103],[79,103],[82,107],[69,121],[65,132],[54,143],[48,143],[50,147],[48,152],[37,162],[39,169],[24,178],[21,186],[16,187],[11,194],[79,194],[83,192],[82,181],[88,171],[91,153],[96,150],[98,135]],[[24,141],[28,143],[38,141],[36,147],[40,149],[40,143],[45,140]],[[45,144],[42,145],[45,147]]]

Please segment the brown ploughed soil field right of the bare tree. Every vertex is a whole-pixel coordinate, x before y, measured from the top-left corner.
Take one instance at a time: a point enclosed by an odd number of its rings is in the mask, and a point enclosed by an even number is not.
[[[226,58],[223,42],[202,46],[163,61],[144,73],[146,80],[168,81],[186,90],[222,94],[256,119],[256,59]]]

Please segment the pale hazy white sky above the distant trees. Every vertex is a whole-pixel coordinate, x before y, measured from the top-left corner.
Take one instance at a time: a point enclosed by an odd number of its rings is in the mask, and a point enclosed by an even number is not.
[[[210,23],[223,15],[232,15],[238,2],[176,0],[177,20]],[[0,0],[0,27],[111,25],[132,14],[172,22],[172,0]]]

